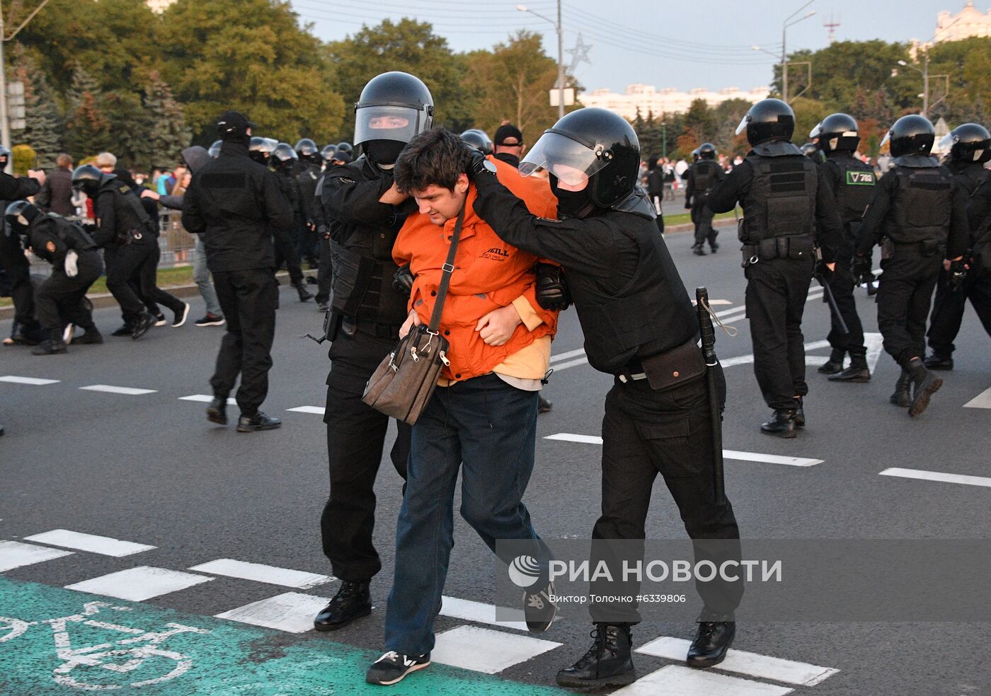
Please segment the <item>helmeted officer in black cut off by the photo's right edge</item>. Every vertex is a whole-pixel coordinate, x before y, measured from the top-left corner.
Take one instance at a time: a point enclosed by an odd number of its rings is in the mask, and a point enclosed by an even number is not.
[[[947,166],[953,172],[953,181],[963,188],[971,201],[968,211],[970,240],[968,252],[964,255],[968,269],[963,278],[954,277],[946,269],[939,273],[928,334],[933,352],[924,360],[928,369],[952,369],[953,339],[960,331],[967,299],[991,335],[991,285],[986,277],[982,277],[972,252],[977,246],[977,233],[981,230],[983,216],[979,207],[991,195],[987,190],[991,187],[991,172],[984,168],[984,162],[991,159],[991,135],[983,126],[965,123],[940,140],[939,149],[949,149]],[[974,210],[977,210],[977,215],[971,214]]]

